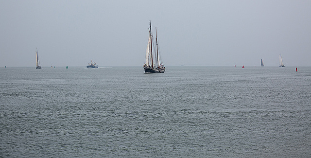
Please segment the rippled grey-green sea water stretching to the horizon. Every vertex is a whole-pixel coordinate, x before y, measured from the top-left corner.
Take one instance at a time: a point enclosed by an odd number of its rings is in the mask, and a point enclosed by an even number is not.
[[[311,156],[311,67],[0,68],[0,157]]]

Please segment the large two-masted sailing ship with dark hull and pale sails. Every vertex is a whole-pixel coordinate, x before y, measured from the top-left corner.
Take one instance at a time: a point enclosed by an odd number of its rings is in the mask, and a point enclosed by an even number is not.
[[[165,67],[160,59],[156,28],[155,28],[156,51],[154,51],[155,49],[153,49],[153,45],[152,45],[152,43],[154,43],[154,40],[153,40],[152,31],[151,31],[151,21],[149,21],[149,23],[150,23],[149,39],[148,39],[147,50],[146,50],[145,64],[143,65],[143,68],[145,70],[145,73],[163,73],[165,71]]]

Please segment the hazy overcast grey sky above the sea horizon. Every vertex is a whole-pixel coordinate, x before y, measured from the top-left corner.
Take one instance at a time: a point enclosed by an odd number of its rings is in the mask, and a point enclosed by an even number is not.
[[[311,65],[311,0],[0,0],[0,66]]]

